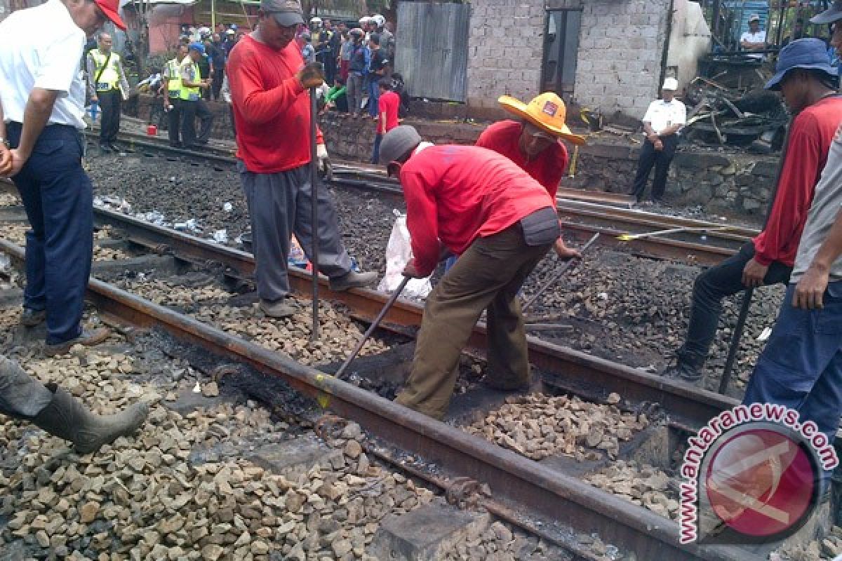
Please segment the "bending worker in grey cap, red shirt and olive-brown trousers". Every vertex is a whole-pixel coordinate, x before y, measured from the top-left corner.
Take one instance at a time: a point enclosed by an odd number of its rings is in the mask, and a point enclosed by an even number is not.
[[[444,417],[456,366],[488,310],[487,385],[530,384],[517,293],[558,239],[555,201],[520,167],[477,146],[433,146],[402,125],[383,136],[381,159],[400,177],[413,259],[403,274],[424,278],[448,251],[461,257],[427,297],[412,373],[396,401]]]

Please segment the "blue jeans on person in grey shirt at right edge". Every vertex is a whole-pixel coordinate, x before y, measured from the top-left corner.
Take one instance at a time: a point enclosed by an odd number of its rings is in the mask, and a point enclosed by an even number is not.
[[[842,281],[829,284],[821,310],[793,308],[795,287],[786,289],[743,403],[786,405],[831,443],[842,414]]]

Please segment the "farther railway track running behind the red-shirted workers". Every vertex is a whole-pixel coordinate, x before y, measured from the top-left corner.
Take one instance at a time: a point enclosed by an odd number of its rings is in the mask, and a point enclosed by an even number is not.
[[[125,141],[131,150],[160,152],[169,157],[228,165],[233,165],[236,161],[232,147],[222,146],[221,143],[205,146],[202,152],[196,152],[172,148],[165,140],[152,140],[153,138],[156,137],[131,132],[120,133],[120,140]],[[400,184],[386,177],[385,173],[376,167],[338,161],[333,166],[333,184],[338,187],[375,191],[402,199]],[[584,241],[595,233],[600,233],[600,245],[618,247],[645,257],[712,265],[733,255],[740,246],[758,234],[756,230],[743,226],[623,209],[616,204],[592,203],[582,198],[564,198],[566,191],[562,190],[557,198],[557,209],[569,234]],[[670,229],[685,231],[631,241],[620,239],[628,234]]]

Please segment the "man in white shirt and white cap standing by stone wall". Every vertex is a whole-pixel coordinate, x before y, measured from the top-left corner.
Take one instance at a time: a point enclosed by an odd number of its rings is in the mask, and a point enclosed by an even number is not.
[[[679,82],[675,78],[667,78],[661,88],[661,99],[649,103],[646,114],[643,115],[643,132],[646,141],[637,161],[637,175],[634,178],[632,193],[637,202],[643,200],[643,191],[649,181],[649,172],[655,167],[655,178],[652,182],[652,200],[663,204],[663,191],[667,187],[667,173],[669,163],[675,156],[675,148],[679,144],[679,129],[687,121],[685,104],[675,99],[675,90]]]

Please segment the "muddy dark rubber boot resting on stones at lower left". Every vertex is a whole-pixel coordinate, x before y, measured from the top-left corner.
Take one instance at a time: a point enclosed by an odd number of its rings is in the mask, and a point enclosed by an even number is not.
[[[53,399],[32,422],[56,437],[73,443],[77,453],[96,452],[104,444],[135,432],[146,420],[149,405],[131,405],[116,415],[94,415],[82,402],[56,384],[45,384]]]

